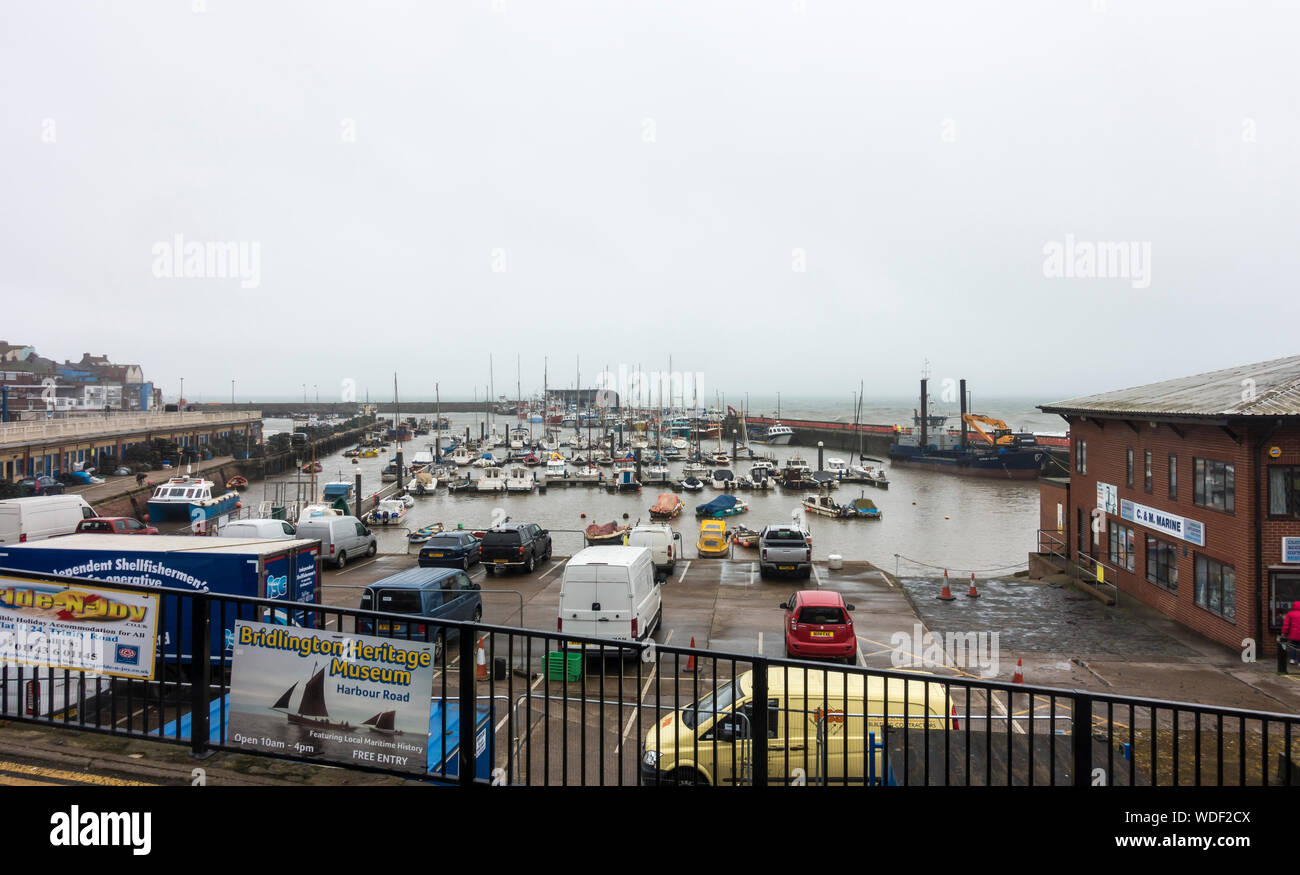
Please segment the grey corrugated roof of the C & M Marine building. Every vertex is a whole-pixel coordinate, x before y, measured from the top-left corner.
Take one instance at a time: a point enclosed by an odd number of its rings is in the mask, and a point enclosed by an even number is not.
[[[1300,355],[1040,404],[1046,413],[1300,416]]]

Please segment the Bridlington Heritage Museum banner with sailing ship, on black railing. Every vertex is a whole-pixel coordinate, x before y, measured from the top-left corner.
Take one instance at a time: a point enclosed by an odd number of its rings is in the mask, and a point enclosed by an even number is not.
[[[428,771],[433,645],[235,623],[231,744]]]

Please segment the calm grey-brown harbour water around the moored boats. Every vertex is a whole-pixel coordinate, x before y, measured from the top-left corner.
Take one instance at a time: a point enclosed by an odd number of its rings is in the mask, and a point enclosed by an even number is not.
[[[781,407],[784,416],[784,400]],[[845,407],[852,406],[845,403]],[[790,412],[794,413],[798,410],[792,408]],[[910,410],[906,412],[910,415]],[[824,416],[827,410],[810,410],[805,415],[810,413]],[[433,412],[403,411],[402,417],[406,416],[432,419]],[[445,416],[451,420],[451,432],[464,434],[464,429],[471,428],[474,436],[478,434],[481,415],[477,417],[473,413]],[[499,433],[516,424],[519,420],[514,416],[497,419]],[[289,430],[290,426],[290,420],[266,420],[268,432]],[[533,429],[534,434],[540,436],[541,425],[533,424]],[[567,438],[569,433],[563,433],[560,437]],[[402,445],[404,462],[410,463],[411,456],[420,450],[432,449],[432,443],[433,436],[430,434]],[[710,447],[706,442],[705,450],[710,449],[716,449],[716,443]],[[816,447],[759,447],[755,445],[755,450],[770,452],[781,460],[800,455],[811,467],[816,467]],[[504,449],[494,452],[500,458],[504,456]],[[572,455],[572,452],[569,449],[564,450],[566,455]],[[394,445],[390,445],[387,452],[381,452],[373,459],[356,459],[356,464],[341,452],[321,458],[322,471],[316,476],[316,495],[318,497],[324,482],[334,480],[352,482],[358,472],[361,475],[363,494],[373,494],[381,486],[380,472],[389,464],[393,455]],[[827,459],[848,459],[848,456],[849,454],[842,450],[826,451]],[[682,463],[670,463],[668,467],[673,480],[680,481]],[[733,469],[738,476],[745,473],[748,468],[749,463],[741,459]],[[542,473],[540,467],[532,471],[537,476]],[[571,471],[575,468],[571,467]],[[610,468],[602,468],[602,471],[607,477],[610,476]],[[835,498],[840,503],[846,503],[859,495],[871,498],[881,510],[880,520],[803,515],[801,506],[803,495],[815,493],[771,489],[737,490],[734,494],[748,502],[750,510],[748,514],[731,517],[728,524],[738,523],[758,529],[768,523],[785,523],[792,516],[800,515],[812,533],[812,550],[816,558],[824,559],[828,554],[837,553],[848,559],[866,559],[889,571],[897,568],[904,576],[941,575],[942,568],[946,567],[958,577],[968,576],[971,571],[976,572],[976,576],[991,577],[1005,576],[1024,567],[1027,554],[1035,547],[1035,532],[1039,527],[1039,491],[1035,481],[959,477],[933,471],[892,468],[888,464],[885,464],[885,471],[890,480],[887,490],[859,484],[842,484],[835,490]],[[478,469],[472,467],[462,468],[460,473],[464,472],[469,472],[473,477],[478,475]],[[298,475],[290,473],[274,477],[272,482],[298,478]],[[302,480],[307,481],[309,477],[302,475]],[[261,484],[251,485],[246,503],[259,501],[263,490]],[[456,527],[482,529],[490,525],[494,519],[508,516],[512,521],[538,523],[550,529],[555,551],[572,554],[584,546],[581,532],[592,523],[650,521],[649,508],[662,491],[671,491],[671,489],[667,485],[646,485],[640,493],[610,494],[604,489],[594,486],[551,486],[546,493],[532,494],[480,494],[472,490],[450,494],[439,486],[434,495],[415,497],[415,506],[407,512],[400,528],[377,525],[373,529],[378,536],[381,553],[404,553],[407,550],[406,529],[416,529],[430,523],[442,523],[446,528],[452,529]],[[722,494],[720,490],[708,485],[699,493],[680,493],[686,507],[680,517],[671,521],[671,525],[675,530],[681,532],[681,543],[688,559],[696,556],[696,538],[699,530],[694,507],[719,494]],[[415,549],[412,547],[412,551]],[[737,558],[746,555],[757,558],[757,551],[734,547],[734,555]]]

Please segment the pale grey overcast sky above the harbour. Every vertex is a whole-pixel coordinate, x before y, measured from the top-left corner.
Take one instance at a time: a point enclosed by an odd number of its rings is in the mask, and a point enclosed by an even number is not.
[[[3,14],[0,339],[169,398],[468,398],[491,352],[511,395],[671,355],[1056,400],[1300,351],[1294,3]],[[209,242],[243,280],[185,276]]]

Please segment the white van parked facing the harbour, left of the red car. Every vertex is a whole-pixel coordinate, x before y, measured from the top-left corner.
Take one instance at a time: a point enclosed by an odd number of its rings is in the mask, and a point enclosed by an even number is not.
[[[659,585],[645,547],[586,547],[564,566],[556,628],[592,638],[646,641],[663,619]],[[577,641],[569,646],[599,649]]]

